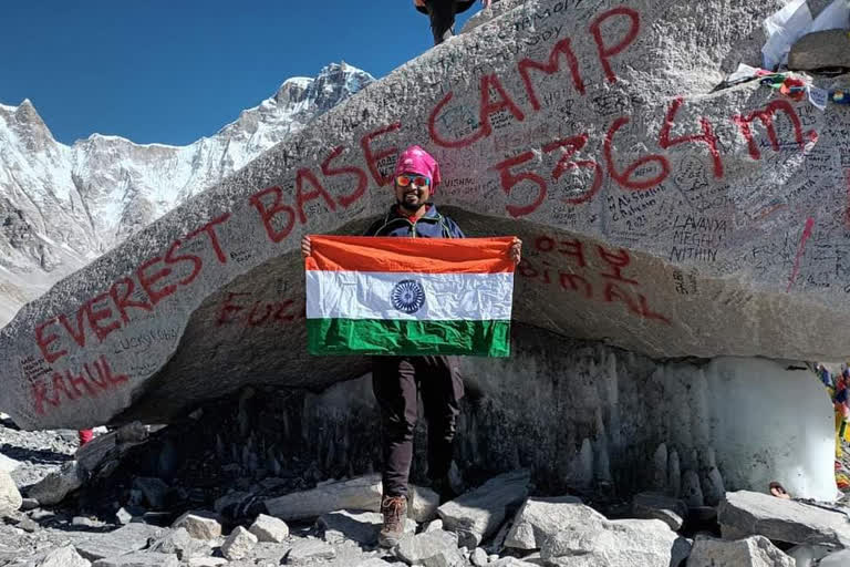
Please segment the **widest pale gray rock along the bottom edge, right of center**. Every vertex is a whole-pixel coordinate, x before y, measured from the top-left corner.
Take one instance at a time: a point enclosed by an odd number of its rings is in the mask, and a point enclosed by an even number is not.
[[[671,567],[690,548],[660,519],[619,519],[560,532],[543,543],[540,556],[550,567]]]

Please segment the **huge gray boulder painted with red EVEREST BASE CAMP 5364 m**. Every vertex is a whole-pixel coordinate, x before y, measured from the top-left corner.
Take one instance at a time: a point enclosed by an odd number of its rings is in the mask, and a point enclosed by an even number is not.
[[[307,353],[299,240],[383,214],[414,143],[467,235],[522,238],[516,321],[652,357],[850,354],[821,332],[850,316],[850,113],[714,91],[785,2],[502,2],[21,309],[0,410],[158,422],[361,374]]]

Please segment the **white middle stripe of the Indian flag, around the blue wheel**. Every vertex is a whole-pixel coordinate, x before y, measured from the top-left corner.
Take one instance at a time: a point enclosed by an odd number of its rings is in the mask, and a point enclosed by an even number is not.
[[[412,313],[393,305],[393,290],[404,280],[424,291]],[[307,270],[308,319],[509,320],[512,299],[514,274]]]

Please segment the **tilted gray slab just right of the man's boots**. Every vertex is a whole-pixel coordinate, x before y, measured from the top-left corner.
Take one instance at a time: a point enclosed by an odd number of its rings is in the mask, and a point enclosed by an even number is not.
[[[456,532],[460,545],[477,547],[505,522],[508,509],[528,496],[529,472],[505,473],[490,478],[437,508],[446,529]]]

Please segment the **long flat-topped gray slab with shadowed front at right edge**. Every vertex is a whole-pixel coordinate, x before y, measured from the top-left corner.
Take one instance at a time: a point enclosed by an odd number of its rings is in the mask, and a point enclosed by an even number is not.
[[[761,535],[789,544],[850,546],[850,522],[801,502],[755,492],[727,492],[718,512],[724,539]]]

